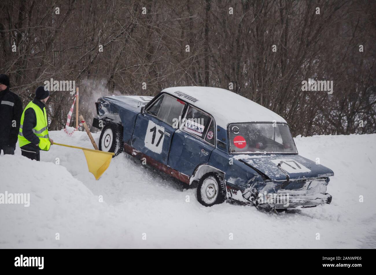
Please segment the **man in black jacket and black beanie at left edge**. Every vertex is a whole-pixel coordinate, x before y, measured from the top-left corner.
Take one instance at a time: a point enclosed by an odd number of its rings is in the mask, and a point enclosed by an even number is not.
[[[0,154],[14,154],[22,109],[20,97],[9,91],[9,77],[0,74]]]

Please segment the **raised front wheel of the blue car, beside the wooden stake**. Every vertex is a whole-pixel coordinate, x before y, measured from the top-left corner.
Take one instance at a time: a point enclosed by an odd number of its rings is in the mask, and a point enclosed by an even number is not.
[[[123,149],[123,127],[117,123],[107,123],[100,133],[99,150],[115,153],[112,157],[116,157]]]

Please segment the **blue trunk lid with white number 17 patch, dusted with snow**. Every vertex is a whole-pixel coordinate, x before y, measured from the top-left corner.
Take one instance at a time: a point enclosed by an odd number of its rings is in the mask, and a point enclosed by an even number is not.
[[[331,169],[299,155],[241,154],[234,158],[255,168],[274,181],[286,180],[286,175],[277,166],[278,163],[281,163],[281,168],[288,173],[290,180],[334,175]]]

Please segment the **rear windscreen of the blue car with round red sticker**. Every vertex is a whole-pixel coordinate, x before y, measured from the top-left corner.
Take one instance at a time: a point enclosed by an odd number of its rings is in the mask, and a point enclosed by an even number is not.
[[[233,123],[229,133],[231,153],[297,153],[285,123]]]

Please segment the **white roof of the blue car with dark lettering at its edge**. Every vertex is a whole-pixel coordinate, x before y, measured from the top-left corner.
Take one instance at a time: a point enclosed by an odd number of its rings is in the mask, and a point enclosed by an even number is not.
[[[180,97],[186,102],[210,113],[217,125],[227,128],[233,122],[285,122],[282,116],[249,100],[221,88],[214,87],[171,87],[162,92]]]

